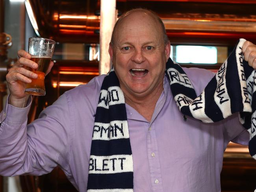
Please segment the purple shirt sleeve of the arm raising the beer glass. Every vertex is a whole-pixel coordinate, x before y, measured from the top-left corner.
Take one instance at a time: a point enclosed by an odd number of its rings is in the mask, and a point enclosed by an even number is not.
[[[31,101],[24,108],[6,104],[0,114],[0,175],[42,175],[57,165],[65,171],[72,137],[69,104],[63,94],[29,125]]]

